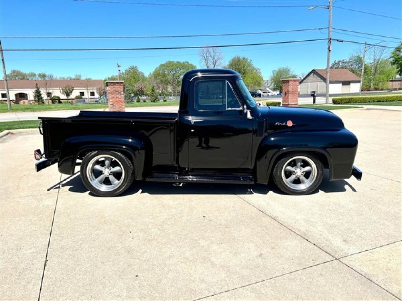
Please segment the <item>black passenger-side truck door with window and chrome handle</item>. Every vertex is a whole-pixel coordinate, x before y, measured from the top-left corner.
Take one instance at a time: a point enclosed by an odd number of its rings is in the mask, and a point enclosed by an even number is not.
[[[186,118],[189,169],[250,169],[253,122],[230,82],[200,79],[193,92]]]

